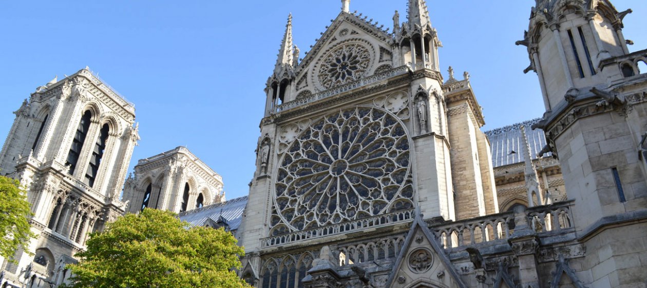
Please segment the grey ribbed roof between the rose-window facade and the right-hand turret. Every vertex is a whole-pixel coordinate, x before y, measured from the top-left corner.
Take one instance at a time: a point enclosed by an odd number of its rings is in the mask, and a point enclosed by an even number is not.
[[[532,119],[485,132],[490,139],[492,166],[496,168],[525,161],[521,146],[523,145],[523,141],[521,141],[522,126],[525,127],[532,159],[537,159],[537,153],[546,145],[546,137],[542,129],[532,130],[531,126],[541,120],[542,118]],[[510,154],[512,151],[516,153]],[[545,154],[544,157],[551,155],[550,153]]]

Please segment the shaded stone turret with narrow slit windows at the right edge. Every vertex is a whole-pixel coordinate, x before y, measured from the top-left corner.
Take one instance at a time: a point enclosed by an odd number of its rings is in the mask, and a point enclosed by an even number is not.
[[[647,71],[637,68],[647,50],[628,50],[622,19],[630,13],[609,0],[537,0],[517,42],[527,46],[526,72],[537,73],[545,103],[533,129],[545,130],[543,151],[560,160],[574,226],[590,251],[582,270],[594,271],[587,283],[600,287],[647,278],[623,258],[647,250],[633,245],[647,241]],[[596,273],[602,267],[613,273]]]

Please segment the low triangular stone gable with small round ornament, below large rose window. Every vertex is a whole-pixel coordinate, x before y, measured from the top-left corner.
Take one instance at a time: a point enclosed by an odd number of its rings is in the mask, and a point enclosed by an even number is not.
[[[468,287],[418,212],[386,287],[410,288],[421,284],[429,287]]]

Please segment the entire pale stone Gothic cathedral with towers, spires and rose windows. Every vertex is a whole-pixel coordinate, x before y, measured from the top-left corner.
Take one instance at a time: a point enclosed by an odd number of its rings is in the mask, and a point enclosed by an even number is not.
[[[146,208],[232,232],[259,288],[647,287],[647,50],[628,50],[631,10],[536,0],[516,45],[545,113],[484,132],[469,74],[441,74],[426,1],[390,31],[341,2],[302,58],[287,19],[243,198],[186,147],[126,176],[134,106],[89,68],[39,87],[0,153],[39,236],[34,255],[0,259],[0,287],[56,287],[89,232]]]

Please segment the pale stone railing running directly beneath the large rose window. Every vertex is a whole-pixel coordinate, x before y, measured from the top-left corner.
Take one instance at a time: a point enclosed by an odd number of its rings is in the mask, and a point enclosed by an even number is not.
[[[285,245],[287,243],[311,240],[323,236],[332,236],[345,232],[356,232],[367,228],[376,228],[398,222],[410,221],[415,218],[413,209],[406,211],[393,212],[389,214],[373,216],[360,220],[347,221],[324,227],[318,227],[303,231],[292,232],[288,234],[272,236],[261,239],[263,247],[272,247],[276,245]]]

